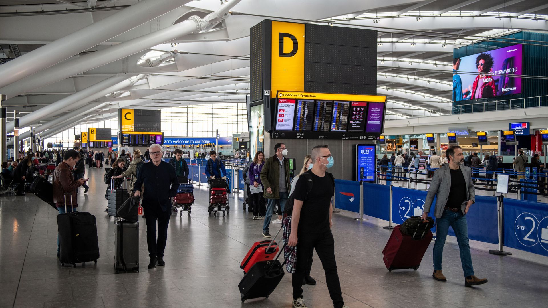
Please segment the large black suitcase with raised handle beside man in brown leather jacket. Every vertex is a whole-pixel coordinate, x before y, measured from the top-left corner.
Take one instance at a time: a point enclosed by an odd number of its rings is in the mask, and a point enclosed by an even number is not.
[[[72,209],[72,195],[71,195]],[[66,212],[66,195],[65,195]],[[59,261],[61,265],[94,261],[99,259],[99,241],[95,216],[85,212],[57,215],[59,231]]]

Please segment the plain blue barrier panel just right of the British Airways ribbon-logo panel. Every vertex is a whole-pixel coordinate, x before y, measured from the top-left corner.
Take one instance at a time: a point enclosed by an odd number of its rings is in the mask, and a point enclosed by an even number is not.
[[[389,220],[389,202],[390,186],[363,183],[363,214]]]

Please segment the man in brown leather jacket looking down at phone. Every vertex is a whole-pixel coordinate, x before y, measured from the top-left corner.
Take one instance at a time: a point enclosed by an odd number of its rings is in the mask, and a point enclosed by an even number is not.
[[[60,214],[65,212],[65,193],[71,194],[71,200],[67,199],[67,211],[77,212],[78,202],[76,200],[76,191],[78,187],[84,185],[88,179],[77,179],[72,175],[72,168],[80,160],[80,153],[76,150],[68,150],[63,156],[63,161],[55,167],[53,171],[53,202]],[[57,258],[59,258],[59,235],[57,236]]]

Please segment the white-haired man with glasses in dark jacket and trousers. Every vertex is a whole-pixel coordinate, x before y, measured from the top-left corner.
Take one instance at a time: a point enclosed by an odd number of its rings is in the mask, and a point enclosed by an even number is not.
[[[156,264],[163,266],[164,249],[168,236],[169,218],[172,214],[171,197],[175,197],[179,180],[175,169],[162,161],[162,146],[150,146],[150,162],[142,165],[134,184],[134,196],[141,196],[141,185],[146,193],[142,196],[142,207],[146,216],[146,243],[149,247],[149,269]],[[158,221],[158,238],[156,238],[156,221]]]

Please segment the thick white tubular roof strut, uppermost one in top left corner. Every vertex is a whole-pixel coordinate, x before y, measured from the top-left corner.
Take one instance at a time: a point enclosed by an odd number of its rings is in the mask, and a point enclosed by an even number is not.
[[[2,65],[0,88],[58,64],[190,0],[144,0]]]

